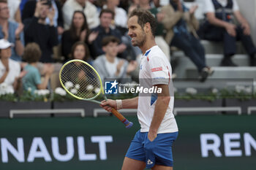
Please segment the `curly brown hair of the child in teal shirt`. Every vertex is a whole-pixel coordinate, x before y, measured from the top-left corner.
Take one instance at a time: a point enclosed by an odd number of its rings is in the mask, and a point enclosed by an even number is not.
[[[42,51],[40,50],[39,45],[35,42],[31,42],[28,45],[26,45],[24,49],[23,58],[28,63],[35,63],[39,61],[41,58]]]

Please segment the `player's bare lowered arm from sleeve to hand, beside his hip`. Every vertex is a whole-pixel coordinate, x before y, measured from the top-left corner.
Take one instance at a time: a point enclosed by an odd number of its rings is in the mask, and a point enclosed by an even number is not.
[[[168,85],[157,85],[162,88],[162,93],[158,94],[157,103],[154,109],[154,116],[148,131],[148,139],[152,142],[157,137],[157,131],[165,117],[165,112],[170,102],[170,93]]]

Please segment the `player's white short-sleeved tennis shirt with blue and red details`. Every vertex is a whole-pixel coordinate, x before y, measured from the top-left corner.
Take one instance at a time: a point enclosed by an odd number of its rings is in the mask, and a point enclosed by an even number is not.
[[[151,47],[142,56],[140,61],[140,87],[151,88],[153,85],[169,85],[169,90],[173,90],[173,84],[170,75],[172,74],[170,62],[165,54],[156,45]],[[154,115],[157,96],[152,94],[140,93],[138,99],[138,120],[140,122],[140,131],[148,132]],[[165,117],[157,131],[157,134],[171,133],[178,131],[175,117],[173,115],[174,97],[170,94],[170,103],[168,105]]]

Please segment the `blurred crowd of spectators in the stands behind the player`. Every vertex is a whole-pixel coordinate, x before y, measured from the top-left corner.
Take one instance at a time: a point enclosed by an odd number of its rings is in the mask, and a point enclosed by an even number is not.
[[[0,0],[0,84],[10,92],[50,88],[53,74],[71,59],[90,63],[102,79],[136,80],[143,54],[127,35],[135,8],[148,9],[156,18],[156,42],[168,61],[170,47],[182,50],[202,82],[214,69],[206,63],[200,39],[223,42],[221,66],[236,66],[232,57],[241,40],[249,65],[256,66],[249,23],[236,0],[206,0],[204,5],[200,23],[197,5],[188,8],[182,0]]]

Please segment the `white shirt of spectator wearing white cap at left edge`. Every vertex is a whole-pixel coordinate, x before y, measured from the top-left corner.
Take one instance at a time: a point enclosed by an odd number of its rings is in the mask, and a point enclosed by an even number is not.
[[[20,75],[20,64],[17,61],[9,59],[9,73],[4,80],[4,83],[7,85],[6,91],[9,93],[14,93],[13,83],[15,78]],[[0,77],[4,75],[5,66],[0,60]]]

